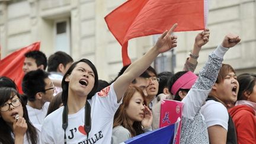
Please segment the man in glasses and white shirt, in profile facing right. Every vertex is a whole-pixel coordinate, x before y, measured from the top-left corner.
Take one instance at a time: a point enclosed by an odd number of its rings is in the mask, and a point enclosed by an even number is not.
[[[22,88],[27,97],[28,117],[33,124],[43,124],[49,102],[52,101],[55,87],[49,73],[41,69],[30,71],[23,78]]]

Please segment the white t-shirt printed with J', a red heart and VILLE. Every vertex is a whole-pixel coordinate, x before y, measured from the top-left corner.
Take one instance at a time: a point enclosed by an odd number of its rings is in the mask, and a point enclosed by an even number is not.
[[[88,101],[91,104],[91,132],[89,132],[88,143],[110,143],[114,114],[121,104],[121,102],[117,103],[113,84],[102,89]],[[44,120],[41,128],[42,143],[64,143],[62,111],[63,107],[60,107]],[[86,143],[84,121],[84,107],[77,113],[68,115],[67,143]]]

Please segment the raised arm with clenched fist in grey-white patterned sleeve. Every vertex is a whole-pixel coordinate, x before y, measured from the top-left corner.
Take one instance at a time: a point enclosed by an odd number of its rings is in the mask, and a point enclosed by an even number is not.
[[[219,69],[222,65],[223,56],[230,47],[235,46],[240,40],[237,35],[228,34],[223,39],[222,44],[209,55],[208,61],[199,72],[199,78],[183,99],[183,116],[188,117],[188,119],[193,119],[194,116],[199,113],[201,105],[204,104],[213,84],[215,84]],[[196,99],[194,98],[195,96],[197,97]]]

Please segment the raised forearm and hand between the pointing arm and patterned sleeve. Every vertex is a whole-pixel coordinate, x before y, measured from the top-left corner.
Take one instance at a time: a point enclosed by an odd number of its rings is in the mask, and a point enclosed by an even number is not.
[[[201,50],[201,47],[204,46],[204,44],[208,43],[209,36],[210,36],[210,31],[208,28],[201,31],[201,33],[197,34],[194,41],[194,48],[190,54],[190,57],[188,57],[185,60],[183,71],[194,72],[197,66],[197,58],[199,57],[199,52]]]

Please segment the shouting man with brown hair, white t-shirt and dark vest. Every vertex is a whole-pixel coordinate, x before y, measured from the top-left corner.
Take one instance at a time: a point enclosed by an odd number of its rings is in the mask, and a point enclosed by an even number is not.
[[[210,143],[237,143],[236,130],[228,114],[228,104],[234,104],[239,83],[232,66],[222,64],[206,104],[201,107]]]

